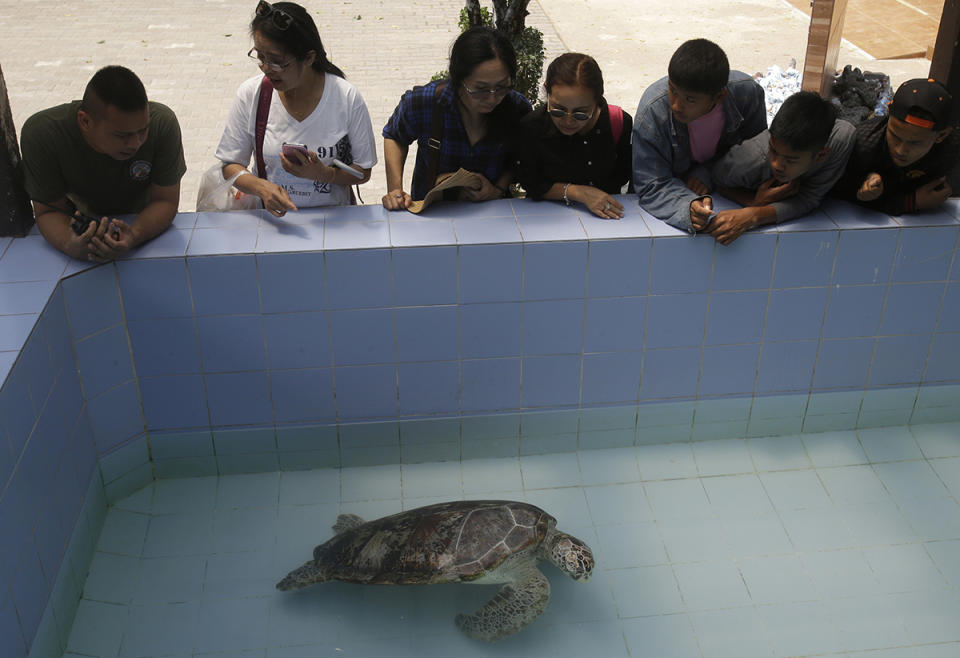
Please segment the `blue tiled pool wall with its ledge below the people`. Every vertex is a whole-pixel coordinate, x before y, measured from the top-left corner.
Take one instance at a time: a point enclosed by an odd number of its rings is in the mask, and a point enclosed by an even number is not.
[[[731,247],[627,207],[189,215],[82,272],[0,246],[3,655],[68,623],[76,529],[155,476],[958,417],[957,204]]]

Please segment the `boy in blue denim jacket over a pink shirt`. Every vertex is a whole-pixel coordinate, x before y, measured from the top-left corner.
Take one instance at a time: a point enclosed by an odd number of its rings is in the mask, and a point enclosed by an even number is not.
[[[677,48],[667,77],[647,87],[635,116],[633,183],[640,205],[691,233],[710,191],[694,167],[767,127],[763,88],[731,71],[726,54],[707,39]]]

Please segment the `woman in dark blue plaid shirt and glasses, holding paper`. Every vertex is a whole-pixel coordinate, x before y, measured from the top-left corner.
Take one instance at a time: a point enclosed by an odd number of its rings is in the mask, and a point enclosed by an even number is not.
[[[437,179],[459,168],[480,175],[478,189],[465,190],[460,198],[487,201],[507,195],[513,172],[517,126],[530,111],[530,102],[513,90],[517,56],[510,41],[488,27],[474,27],[453,44],[450,78],[414,87],[400,99],[383,127],[383,156],[387,189],[383,205],[388,210],[408,208],[422,199],[436,180],[427,180],[433,132],[433,114],[443,112]],[[410,144],[417,142],[413,189],[403,189],[403,165]]]

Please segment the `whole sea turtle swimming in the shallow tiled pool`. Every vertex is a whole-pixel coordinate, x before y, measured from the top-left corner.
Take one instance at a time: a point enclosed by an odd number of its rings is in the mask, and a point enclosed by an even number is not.
[[[327,580],[377,585],[503,583],[497,595],[456,624],[472,638],[494,641],[536,619],[550,600],[550,582],[537,568],[549,560],[578,581],[593,570],[585,543],[556,530],[539,507],[509,500],[427,505],[365,522],[341,514],[336,535],[313,559],[277,583],[298,589]]]

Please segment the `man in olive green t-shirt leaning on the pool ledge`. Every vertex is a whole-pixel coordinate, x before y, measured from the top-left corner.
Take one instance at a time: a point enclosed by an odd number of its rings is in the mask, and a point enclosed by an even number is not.
[[[147,101],[122,66],[100,69],[82,101],[37,112],[21,131],[24,183],[37,227],[60,251],[107,261],[170,226],[186,171],[173,111]],[[136,214],[133,224],[113,217]],[[80,215],[93,216],[82,229]]]

